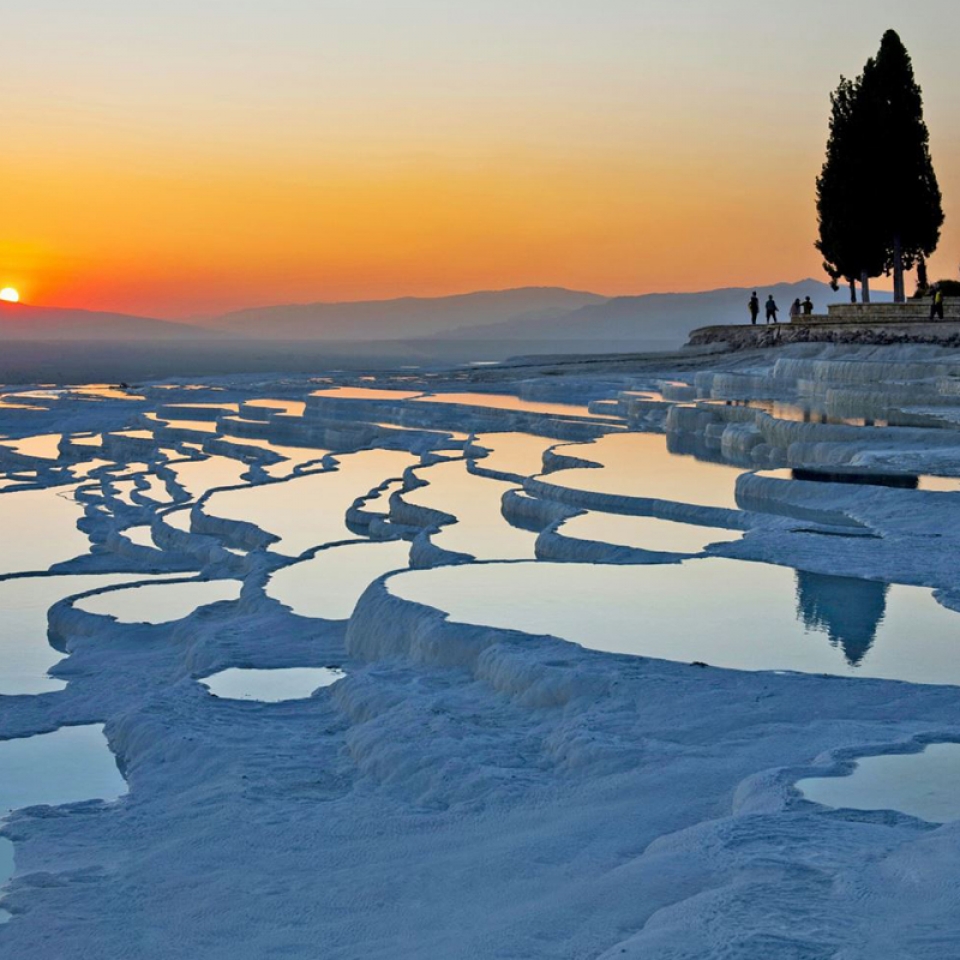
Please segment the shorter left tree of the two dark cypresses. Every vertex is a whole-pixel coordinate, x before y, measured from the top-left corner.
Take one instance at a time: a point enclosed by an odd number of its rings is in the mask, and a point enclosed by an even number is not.
[[[840,78],[830,95],[830,137],[827,158],[817,178],[817,214],[824,270],[836,289],[838,281],[850,284],[856,302],[857,281],[864,302],[870,299],[870,277],[883,272],[886,252],[874,220],[875,200],[860,186],[870,176],[870,135],[861,104],[860,80]]]

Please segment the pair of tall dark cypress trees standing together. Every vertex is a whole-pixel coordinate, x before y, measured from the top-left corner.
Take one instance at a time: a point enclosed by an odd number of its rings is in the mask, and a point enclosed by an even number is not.
[[[892,271],[903,301],[903,272],[936,249],[943,208],[921,90],[893,30],[860,77],[841,79],[831,105],[817,249],[835,283],[843,277],[853,290],[857,277],[864,282],[864,300],[869,278]]]

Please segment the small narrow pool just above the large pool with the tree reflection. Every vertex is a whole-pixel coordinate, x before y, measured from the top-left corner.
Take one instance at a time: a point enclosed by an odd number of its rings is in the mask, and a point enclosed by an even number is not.
[[[711,543],[739,540],[743,533],[656,517],[620,516],[589,510],[560,525],[560,533],[577,540],[596,540],[615,546],[664,553],[700,553]]]

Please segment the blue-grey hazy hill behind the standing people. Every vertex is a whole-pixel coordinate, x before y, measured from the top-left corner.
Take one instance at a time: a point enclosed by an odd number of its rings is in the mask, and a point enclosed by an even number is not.
[[[757,287],[761,306],[773,294],[780,307],[780,320],[789,320],[790,304],[796,297],[809,296],[816,312],[825,313],[828,303],[847,297],[845,289],[834,293],[825,283],[801,280]],[[589,304],[557,318],[514,317],[506,322],[455,330],[449,339],[476,342],[523,342],[526,351],[531,345],[568,352],[593,344],[593,351],[609,349],[672,349],[684,344],[687,335],[697,327],[712,324],[749,323],[747,301],[753,288],[731,287],[703,293],[651,293],[636,297],[613,297]],[[877,300],[889,300],[890,294],[875,294]],[[760,323],[764,322],[761,310]],[[560,341],[560,342],[558,342]],[[564,343],[566,341],[566,343]]]

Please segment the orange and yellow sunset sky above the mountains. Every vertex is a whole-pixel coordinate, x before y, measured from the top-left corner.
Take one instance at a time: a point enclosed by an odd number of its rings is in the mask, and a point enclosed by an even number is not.
[[[0,286],[27,302],[822,277],[829,92],[888,27],[944,193],[931,274],[957,275],[956,0],[15,0],[2,22]]]

